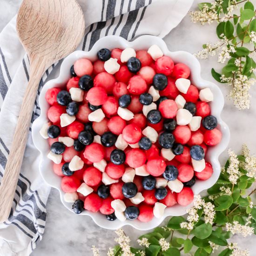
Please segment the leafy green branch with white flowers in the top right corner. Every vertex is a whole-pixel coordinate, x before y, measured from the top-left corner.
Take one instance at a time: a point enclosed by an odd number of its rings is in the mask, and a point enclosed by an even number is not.
[[[238,109],[247,109],[249,89],[256,81],[256,9],[249,0],[215,0],[200,3],[198,8],[190,12],[192,22],[217,23],[219,40],[204,44],[195,56],[207,59],[218,54],[218,62],[225,66],[221,74],[212,68],[212,76],[230,86],[229,97]]]

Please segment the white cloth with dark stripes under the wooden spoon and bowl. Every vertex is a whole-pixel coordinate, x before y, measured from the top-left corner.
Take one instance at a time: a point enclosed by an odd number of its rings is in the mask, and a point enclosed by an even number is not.
[[[142,34],[164,37],[188,12],[193,0],[79,0],[86,32],[78,49],[89,50],[101,37],[120,35],[131,40]],[[0,181],[12,144],[22,97],[29,79],[29,61],[16,30],[16,18],[0,33]],[[43,75],[31,123],[40,115],[38,96],[48,75]],[[11,214],[0,224],[0,256],[27,256],[42,239],[50,188],[38,172],[39,154],[31,133],[27,141]],[[56,199],[59,200],[59,199]]]

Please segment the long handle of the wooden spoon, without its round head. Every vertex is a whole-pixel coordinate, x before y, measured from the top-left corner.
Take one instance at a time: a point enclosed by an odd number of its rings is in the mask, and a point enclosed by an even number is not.
[[[12,148],[0,184],[0,222],[4,222],[8,219],[12,208],[38,85],[45,69],[46,67],[43,61],[38,60],[31,63],[30,79],[20,108]]]

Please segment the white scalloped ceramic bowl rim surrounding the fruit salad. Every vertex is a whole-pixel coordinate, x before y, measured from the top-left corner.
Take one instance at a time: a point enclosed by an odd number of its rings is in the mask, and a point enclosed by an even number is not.
[[[40,128],[44,123],[47,122],[47,109],[49,108],[49,105],[45,100],[45,94],[47,89],[53,87],[61,87],[66,84],[68,79],[70,78],[70,67],[74,64],[74,62],[81,58],[88,58],[91,61],[95,61],[97,59],[97,51],[103,47],[107,47],[109,49],[113,49],[115,47],[119,47],[121,49],[133,47],[135,50],[141,50],[148,49],[153,44],[158,45],[162,49],[164,55],[170,56],[175,63],[182,62],[189,66],[191,71],[190,79],[192,83],[195,84],[199,89],[209,87],[214,94],[214,101],[210,102],[211,114],[216,116],[218,120],[218,128],[222,131],[222,141],[217,146],[209,148],[206,160],[211,163],[214,172],[209,180],[195,182],[195,185],[192,187],[194,194],[199,194],[200,192],[202,192],[202,190],[210,188],[217,181],[221,170],[218,157],[228,146],[230,137],[229,128],[221,119],[221,111],[224,105],[224,99],[221,90],[215,84],[202,79],[200,75],[200,64],[192,54],[183,51],[172,53],[168,50],[165,42],[158,37],[144,35],[135,39],[132,42],[128,42],[127,40],[118,36],[107,36],[98,40],[89,52],[76,51],[67,56],[67,58],[62,62],[59,77],[57,79],[48,81],[41,90],[39,97],[41,115],[34,121],[32,127],[34,145],[41,154],[39,166],[40,173],[48,185],[60,191],[61,202],[65,205],[65,207],[67,207],[67,209],[72,211],[72,204],[67,203],[63,200],[64,192],[61,190],[61,177],[54,174],[52,162],[47,158],[47,153],[49,152],[48,141],[43,139],[39,134]],[[89,211],[83,211],[81,215],[91,216],[96,224],[106,229],[118,229],[124,225],[131,225],[136,229],[148,230],[160,225],[160,223],[167,216],[184,215],[186,213],[186,209],[189,209],[190,207],[191,205],[186,207],[183,207],[181,205],[175,205],[173,207],[165,209],[164,216],[162,216],[161,219],[157,219],[154,217],[153,220],[147,223],[140,222],[138,220],[127,220],[125,222],[115,220],[114,222],[110,222],[101,213],[92,213]]]

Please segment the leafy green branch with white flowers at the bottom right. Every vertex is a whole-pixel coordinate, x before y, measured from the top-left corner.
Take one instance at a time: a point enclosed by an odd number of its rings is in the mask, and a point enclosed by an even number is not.
[[[238,234],[256,234],[256,205],[251,195],[256,193],[256,156],[243,146],[242,155],[229,150],[229,160],[222,168],[208,196],[195,196],[188,216],[172,217],[164,227],[157,227],[137,240],[140,248],[130,246],[130,238],[122,229],[116,231],[118,243],[108,256],[249,256],[229,238]],[[139,247],[138,246],[138,247]],[[99,250],[93,247],[94,256]]]

